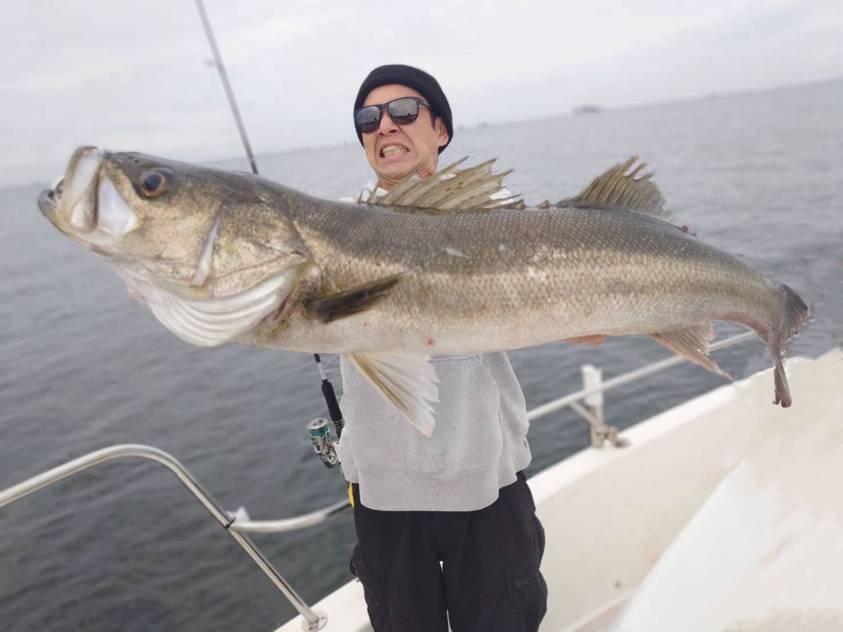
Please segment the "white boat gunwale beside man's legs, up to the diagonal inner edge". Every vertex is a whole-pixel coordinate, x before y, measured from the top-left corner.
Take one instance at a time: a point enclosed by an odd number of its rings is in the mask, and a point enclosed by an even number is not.
[[[749,451],[777,425],[807,426],[843,408],[841,360],[843,353],[835,350],[818,360],[788,361],[795,395],[790,409],[771,404],[767,370],[632,426],[622,433],[629,447],[587,448],[529,479],[547,543],[542,573],[550,597],[541,629],[608,629],[665,549]],[[327,614],[325,630],[371,630],[357,580],[313,608]],[[277,632],[301,629],[296,618]]]

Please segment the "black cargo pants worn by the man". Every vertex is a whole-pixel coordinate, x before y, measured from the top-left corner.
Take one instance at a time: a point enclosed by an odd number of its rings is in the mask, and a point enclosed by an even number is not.
[[[545,530],[524,473],[478,511],[376,511],[352,488],[352,570],[375,632],[447,632],[448,618],[454,632],[539,629]]]

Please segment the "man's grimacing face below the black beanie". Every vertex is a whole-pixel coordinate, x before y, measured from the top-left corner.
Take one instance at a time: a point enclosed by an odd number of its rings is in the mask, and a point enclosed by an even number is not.
[[[401,97],[424,99],[412,88],[389,83],[374,88],[363,105],[389,103]],[[448,131],[442,119],[437,118],[432,124],[431,111],[424,105],[419,105],[418,118],[409,125],[398,125],[384,110],[379,128],[362,137],[366,158],[378,175],[379,184],[389,187],[414,171],[420,178],[436,173],[439,147],[448,143]]]

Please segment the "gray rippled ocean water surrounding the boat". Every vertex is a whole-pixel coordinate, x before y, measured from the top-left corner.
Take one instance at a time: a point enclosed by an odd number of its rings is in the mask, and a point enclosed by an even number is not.
[[[631,154],[652,164],[678,222],[811,304],[813,322],[791,355],[843,344],[843,82],[458,127],[442,165],[497,157],[515,169],[508,188],[537,203],[576,193]],[[370,179],[356,144],[258,160],[266,177],[329,198]],[[325,415],[312,358],[178,340],[41,217],[44,185],[0,190],[0,489],[99,447],[139,442],[172,453],[225,506],[246,506],[255,519],[341,499],[339,470],[319,463],[304,428]],[[580,388],[583,363],[609,378],[668,355],[636,337],[510,357],[533,407]],[[771,366],[760,340],[715,357],[736,378]],[[328,366],[339,388],[336,358]],[[607,394],[607,421],[631,426],[721,383],[678,367]],[[536,420],[529,439],[533,474],[586,447],[588,428],[563,410]],[[311,603],[352,578],[350,514],[255,541]],[[99,466],[0,510],[0,629],[258,631],[293,614],[152,463]]]

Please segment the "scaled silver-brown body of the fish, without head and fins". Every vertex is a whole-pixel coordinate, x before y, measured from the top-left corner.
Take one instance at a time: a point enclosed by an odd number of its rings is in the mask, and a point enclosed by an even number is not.
[[[379,303],[347,319],[317,325],[293,310],[266,332],[283,339],[283,348],[300,341],[302,349],[341,347],[330,351],[492,351],[711,320],[774,329],[781,311],[775,283],[637,212],[431,212],[291,201],[290,217],[325,281],[322,292],[405,276]]]

